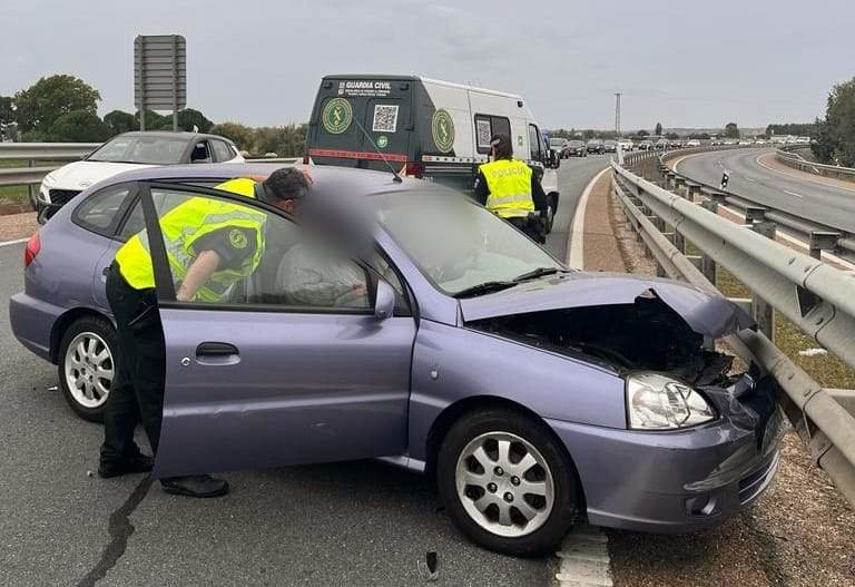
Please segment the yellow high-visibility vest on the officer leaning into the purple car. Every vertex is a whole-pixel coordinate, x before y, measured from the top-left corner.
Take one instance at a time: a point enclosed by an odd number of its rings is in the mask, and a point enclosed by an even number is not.
[[[255,198],[255,182],[248,178],[230,179],[214,188]],[[164,214],[159,221],[173,278],[176,283],[185,278],[187,270],[197,256],[194,244],[200,237],[224,228],[236,229],[232,244],[243,247],[248,246],[249,243],[245,232],[240,229],[249,231],[255,241],[254,254],[244,260],[238,268],[215,271],[194,297],[196,301],[204,302],[220,301],[235,282],[252,275],[261,263],[264,255],[263,233],[266,219],[267,216],[262,211],[222,199],[191,197],[179,204]],[[227,237],[232,238],[232,234],[229,233]],[[116,261],[122,277],[131,287],[144,290],[155,286],[155,271],[147,231],[142,229],[125,243],[116,253]]]

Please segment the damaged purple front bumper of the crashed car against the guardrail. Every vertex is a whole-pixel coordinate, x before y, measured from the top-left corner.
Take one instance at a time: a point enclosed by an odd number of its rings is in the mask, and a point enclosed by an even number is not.
[[[710,390],[716,422],[675,432],[550,420],[577,467],[592,525],[661,534],[715,526],[757,499],[778,466],[774,381]],[[730,405],[726,405],[730,403]],[[733,413],[725,412],[733,409]]]

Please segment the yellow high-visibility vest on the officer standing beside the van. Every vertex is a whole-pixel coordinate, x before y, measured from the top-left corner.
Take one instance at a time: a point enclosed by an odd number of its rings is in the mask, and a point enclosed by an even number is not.
[[[534,212],[531,167],[513,159],[499,159],[479,167],[490,195],[487,209],[501,218],[525,217]]]

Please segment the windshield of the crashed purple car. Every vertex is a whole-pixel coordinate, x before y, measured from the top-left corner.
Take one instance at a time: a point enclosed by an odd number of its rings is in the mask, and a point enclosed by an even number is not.
[[[449,295],[497,282],[513,286],[512,281],[527,273],[564,268],[509,223],[459,193],[391,195],[377,214],[421,272]]]

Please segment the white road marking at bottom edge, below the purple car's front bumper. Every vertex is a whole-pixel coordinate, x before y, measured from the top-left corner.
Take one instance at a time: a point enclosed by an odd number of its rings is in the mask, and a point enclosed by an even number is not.
[[[609,539],[600,528],[578,525],[556,552],[560,559],[556,574],[559,587],[611,587]]]

